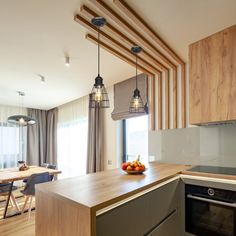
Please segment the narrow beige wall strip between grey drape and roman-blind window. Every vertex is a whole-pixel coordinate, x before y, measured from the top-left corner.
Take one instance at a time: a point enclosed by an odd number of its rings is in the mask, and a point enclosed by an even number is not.
[[[111,118],[113,111],[113,86],[107,88],[110,99],[110,108],[105,109],[104,134],[104,166],[105,170],[117,168],[122,159],[122,121]]]

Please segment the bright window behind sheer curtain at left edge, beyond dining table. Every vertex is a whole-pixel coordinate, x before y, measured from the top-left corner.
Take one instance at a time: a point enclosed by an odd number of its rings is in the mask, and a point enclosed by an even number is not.
[[[26,160],[26,127],[0,123],[0,168],[17,167]]]

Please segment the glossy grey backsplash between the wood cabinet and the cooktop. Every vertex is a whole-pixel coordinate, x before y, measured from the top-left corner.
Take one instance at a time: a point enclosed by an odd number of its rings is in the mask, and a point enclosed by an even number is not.
[[[150,131],[149,159],[236,167],[236,125]]]

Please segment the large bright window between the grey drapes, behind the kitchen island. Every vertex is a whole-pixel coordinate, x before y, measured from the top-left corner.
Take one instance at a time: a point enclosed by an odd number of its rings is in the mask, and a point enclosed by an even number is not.
[[[58,168],[59,178],[86,174],[88,119],[59,123]]]

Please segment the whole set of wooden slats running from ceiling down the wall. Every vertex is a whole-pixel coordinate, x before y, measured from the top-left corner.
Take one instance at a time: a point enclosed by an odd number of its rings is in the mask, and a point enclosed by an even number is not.
[[[153,104],[150,110],[151,127],[158,129],[178,128],[180,117],[182,118],[181,127],[186,127],[186,81],[185,81],[185,62],[161,39],[161,37],[148,26],[148,24],[124,1],[113,0],[118,11],[128,18],[130,25],[118,12],[114,11],[103,0],[90,0],[93,8],[83,5],[80,13],[75,16],[75,21],[87,28],[90,32],[97,34],[97,28],[90,22],[96,16],[105,17],[108,22],[101,29],[101,46],[108,52],[119,57],[132,66],[135,66],[135,57],[130,51],[134,45],[140,45],[143,50],[138,55],[139,70],[148,74],[153,80],[157,80],[158,86],[158,124],[155,121],[155,109]],[[134,25],[136,26],[134,28]],[[88,34],[86,38],[93,43],[97,43],[97,37]],[[181,73],[177,73],[177,68]],[[157,75],[155,77],[155,75]],[[150,78],[149,77],[149,78]],[[178,79],[179,78],[179,79]],[[170,79],[173,80],[173,88],[170,88]],[[163,83],[165,86],[162,86]],[[181,83],[181,90],[178,89]],[[152,81],[152,86],[154,86]],[[154,86],[155,87],[155,86]],[[153,93],[155,88],[151,90]],[[181,114],[178,112],[178,94],[181,92]],[[173,107],[170,107],[170,95],[173,94]],[[152,99],[154,95],[151,95]],[[163,104],[163,100],[165,104]],[[164,105],[164,106],[163,106]],[[153,110],[154,109],[154,110]],[[171,110],[173,109],[173,113]],[[165,111],[165,114],[163,113]],[[173,114],[173,125],[170,115]],[[165,117],[165,120],[163,120]]]

